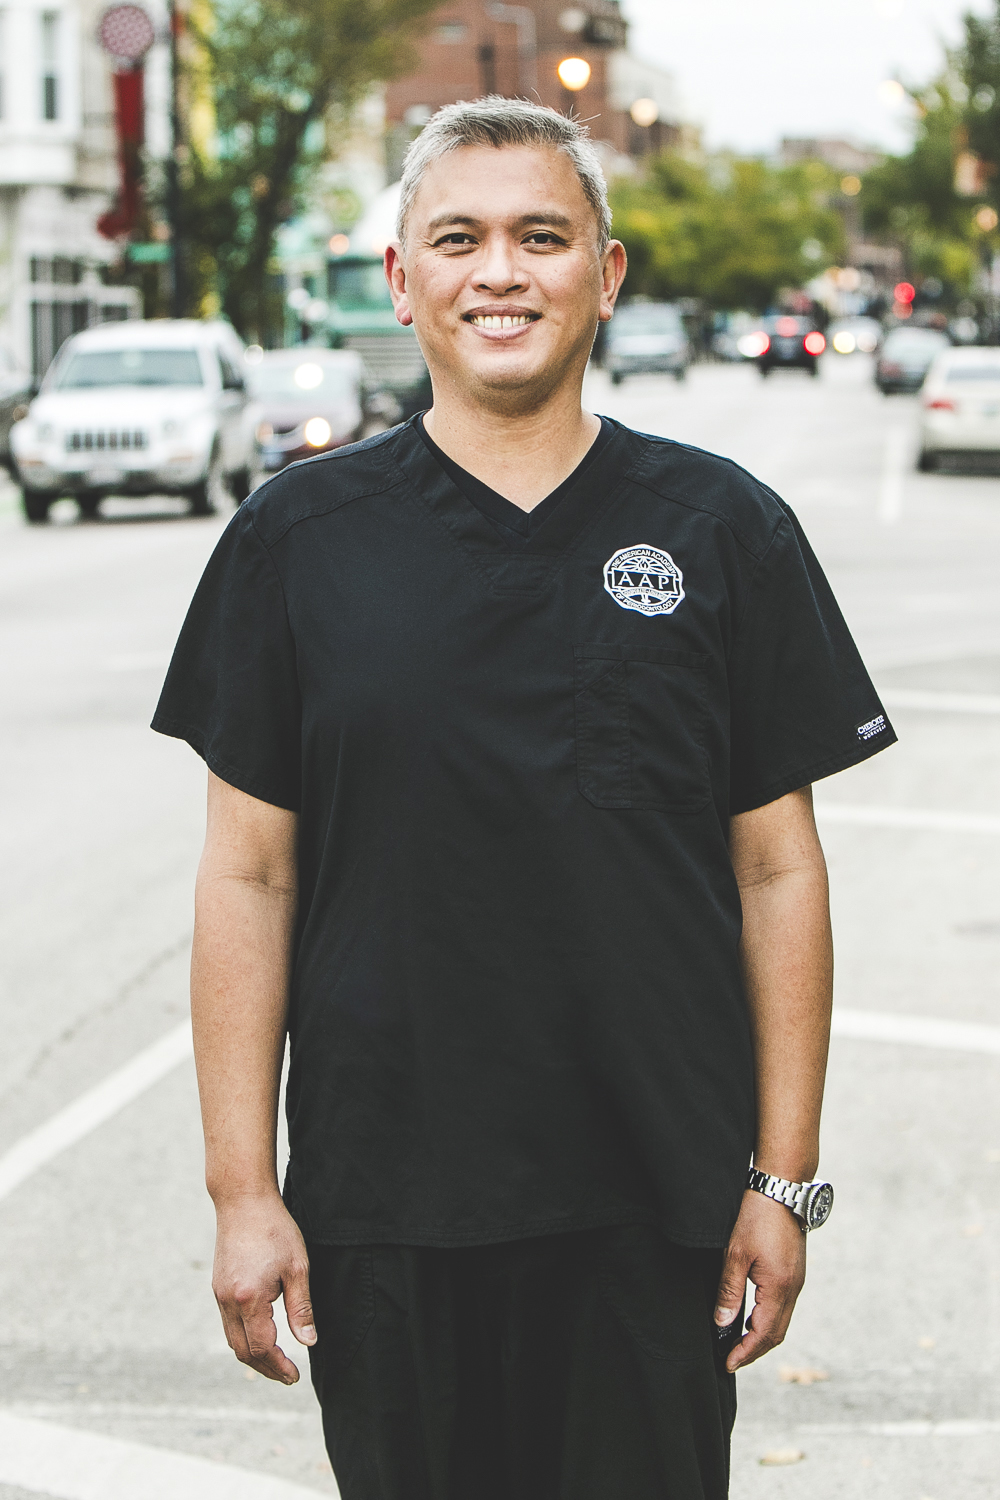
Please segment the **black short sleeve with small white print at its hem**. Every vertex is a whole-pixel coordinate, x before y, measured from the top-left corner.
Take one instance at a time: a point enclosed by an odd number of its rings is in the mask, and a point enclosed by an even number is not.
[[[826,576],[786,510],[730,654],[730,813],[895,744]]]

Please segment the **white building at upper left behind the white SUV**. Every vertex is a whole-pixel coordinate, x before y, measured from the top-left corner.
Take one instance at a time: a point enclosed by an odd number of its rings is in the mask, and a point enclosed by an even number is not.
[[[118,184],[106,0],[0,0],[0,344],[40,376],[79,328],[138,316],[105,284],[120,248],[96,222]],[[148,4],[162,34],[160,3]],[[147,148],[166,150],[166,45],[147,56]]]

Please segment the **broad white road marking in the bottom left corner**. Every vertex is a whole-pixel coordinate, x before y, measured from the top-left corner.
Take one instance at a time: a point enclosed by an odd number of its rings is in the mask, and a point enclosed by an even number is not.
[[[0,1480],[57,1500],[316,1500],[318,1491],[166,1448],[0,1412]]]

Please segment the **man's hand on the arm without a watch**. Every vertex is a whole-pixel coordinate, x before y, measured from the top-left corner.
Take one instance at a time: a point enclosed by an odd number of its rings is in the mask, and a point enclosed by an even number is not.
[[[277,1192],[216,1203],[216,1294],[229,1348],[241,1364],[292,1386],[297,1366],[277,1347],[271,1304],[285,1298],[288,1326],[300,1344],[315,1344],[309,1300],[309,1256],[295,1220]]]

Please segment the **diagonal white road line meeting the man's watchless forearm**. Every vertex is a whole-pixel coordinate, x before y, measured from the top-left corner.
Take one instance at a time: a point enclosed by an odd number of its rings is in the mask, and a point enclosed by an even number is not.
[[[190,1022],[184,1022],[151,1047],[136,1053],[123,1068],[108,1074],[103,1083],[52,1114],[45,1125],[22,1136],[0,1156],[0,1198],[6,1198],[33,1172],[88,1136],[97,1125],[103,1125],[139,1094],[145,1094],[190,1054]]]

